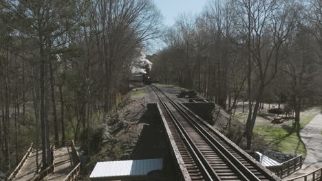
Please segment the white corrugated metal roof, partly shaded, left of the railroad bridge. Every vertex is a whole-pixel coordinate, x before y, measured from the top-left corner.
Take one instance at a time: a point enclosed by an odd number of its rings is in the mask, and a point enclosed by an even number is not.
[[[97,162],[89,178],[144,176],[150,171],[161,170],[162,165],[162,159]]]

